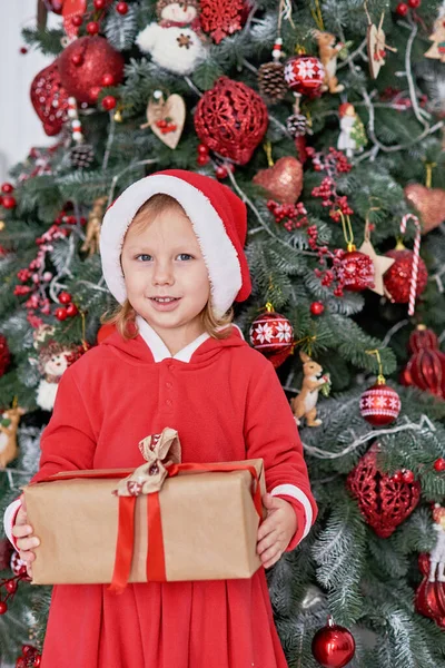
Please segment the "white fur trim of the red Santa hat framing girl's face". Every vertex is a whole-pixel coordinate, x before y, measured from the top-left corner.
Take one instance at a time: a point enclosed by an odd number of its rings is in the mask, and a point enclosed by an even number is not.
[[[129,186],[103,217],[100,255],[103,277],[111,294],[120,304],[127,298],[120,266],[123,238],[142,204],[160,193],[179,202],[189,217],[209,274],[214,313],[224,315],[243,284],[236,248],[208,197],[186,180],[166,174],[148,176]]]

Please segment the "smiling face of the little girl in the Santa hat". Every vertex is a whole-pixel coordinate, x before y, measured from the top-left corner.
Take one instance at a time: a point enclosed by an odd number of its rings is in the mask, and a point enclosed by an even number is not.
[[[146,226],[131,224],[121,265],[131,306],[170,352],[204,333],[200,313],[210,283],[191,223],[180,208],[164,209]]]

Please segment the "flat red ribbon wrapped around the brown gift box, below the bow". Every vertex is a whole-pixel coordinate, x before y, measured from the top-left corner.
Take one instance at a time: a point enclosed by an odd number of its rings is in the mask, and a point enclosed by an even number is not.
[[[249,471],[255,481],[255,509],[259,518],[263,518],[261,490],[259,487],[258,473],[255,466],[250,464],[171,464],[168,466],[167,471],[168,478],[175,478],[182,471],[201,471],[207,473]],[[130,577],[135,544],[136,499],[137,497],[119,497],[118,540],[116,546],[115,570],[109,587],[109,591],[112,591],[113,593],[122,593]],[[165,582],[167,576],[159,492],[147,494],[147,520],[149,532],[147,580]]]

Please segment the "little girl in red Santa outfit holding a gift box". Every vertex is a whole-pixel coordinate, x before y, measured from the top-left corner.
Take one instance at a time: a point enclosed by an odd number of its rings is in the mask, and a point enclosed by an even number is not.
[[[251,289],[246,233],[243,202],[189,171],[142,178],[108,209],[100,250],[120,304],[116,332],[65,372],[33,481],[139,466],[139,441],[165,426],[178,431],[185,462],[263,458],[267,518],[257,551],[268,568],[308,533],[316,504],[274,367],[230,323],[233,302]],[[31,571],[39,539],[18,505],[6,524]],[[129,584],[120,596],[106,584],[57,586],[41,666],[287,664],[260,568],[245,580]]]

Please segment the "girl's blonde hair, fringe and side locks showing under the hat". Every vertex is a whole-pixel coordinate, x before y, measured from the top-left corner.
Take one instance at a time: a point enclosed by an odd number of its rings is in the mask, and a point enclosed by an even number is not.
[[[175,197],[165,194],[154,195],[136,213],[135,218],[130,225],[140,227],[144,230],[150,225],[155,218],[166,209],[180,210],[187,218],[187,214],[182,206]],[[112,313],[105,313],[100,318],[103,325],[116,325],[119,334],[125,340],[136,338],[138,335],[138,327],[136,326],[136,311],[131,306],[130,302],[126,299],[123,304],[119,304]],[[207,302],[206,306],[200,313],[204,330],[212,338],[228,338],[231,334],[231,324],[234,320],[234,311],[230,308],[221,317],[216,317],[211,307],[211,296]]]

